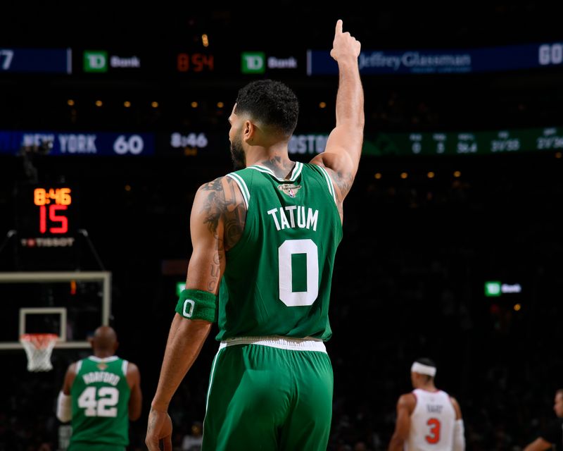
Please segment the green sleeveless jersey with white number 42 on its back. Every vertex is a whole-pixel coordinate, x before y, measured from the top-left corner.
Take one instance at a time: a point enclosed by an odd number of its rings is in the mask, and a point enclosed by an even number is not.
[[[90,356],[77,362],[72,396],[71,445],[129,444],[127,360]]]

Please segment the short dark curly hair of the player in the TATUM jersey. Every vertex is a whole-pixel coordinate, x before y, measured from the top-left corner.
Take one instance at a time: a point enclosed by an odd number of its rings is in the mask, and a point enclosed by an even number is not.
[[[248,113],[251,118],[291,135],[297,125],[299,101],[282,82],[256,80],[239,89],[234,112]]]

